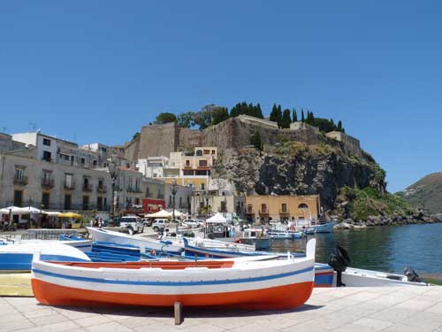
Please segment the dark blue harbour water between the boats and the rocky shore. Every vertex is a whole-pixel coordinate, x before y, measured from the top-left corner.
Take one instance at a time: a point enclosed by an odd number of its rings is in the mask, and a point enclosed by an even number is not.
[[[442,223],[336,230],[314,236],[317,262],[326,263],[339,244],[350,254],[352,267],[402,274],[410,266],[418,274],[442,273]],[[305,251],[311,237],[274,240],[271,251]]]

